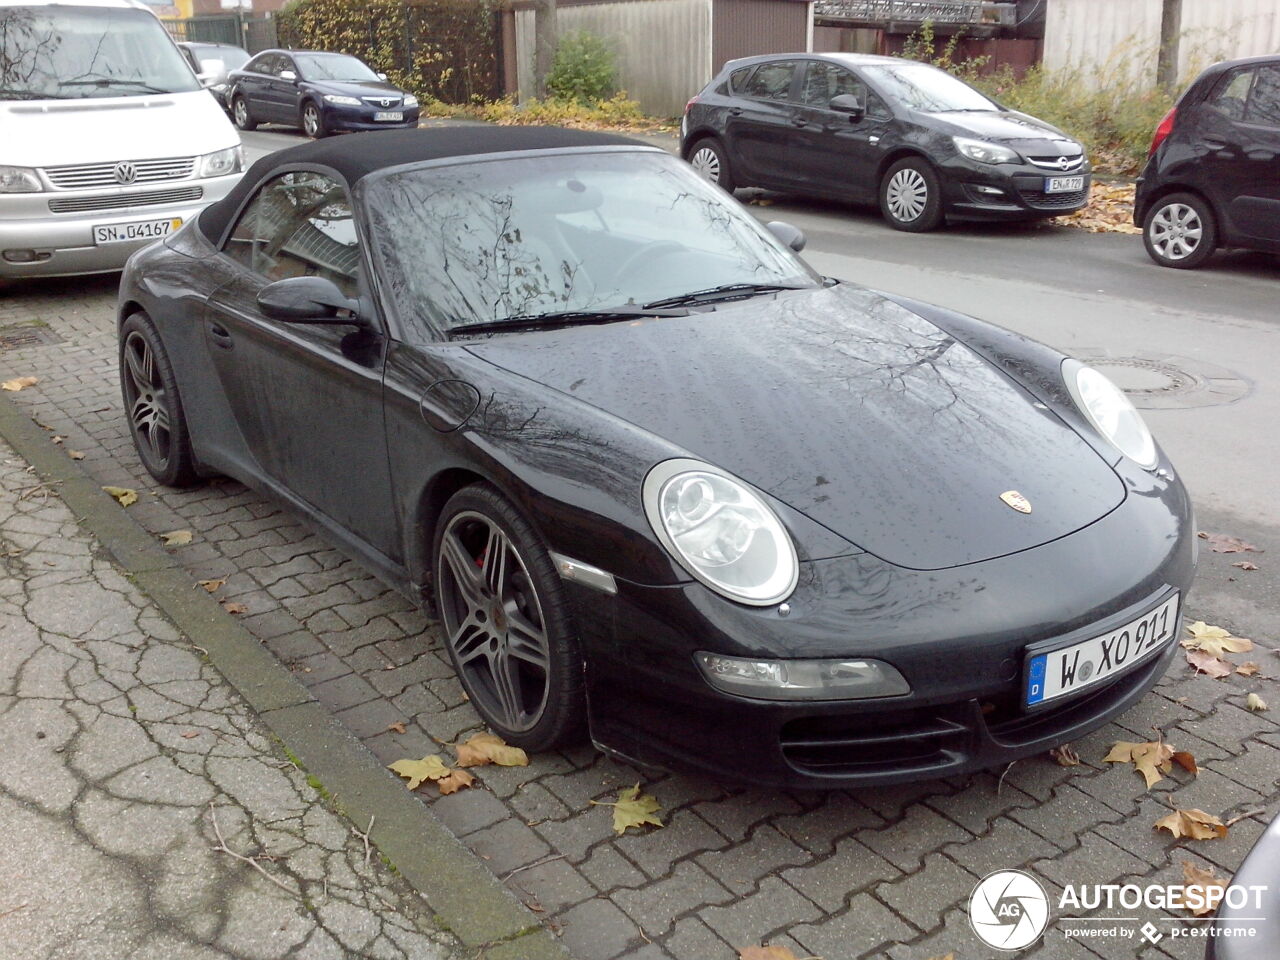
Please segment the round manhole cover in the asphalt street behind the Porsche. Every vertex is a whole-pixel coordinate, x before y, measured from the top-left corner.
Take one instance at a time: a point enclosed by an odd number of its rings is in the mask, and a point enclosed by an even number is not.
[[[1253,389],[1226,367],[1170,353],[1133,357],[1094,348],[1075,351],[1075,356],[1111,378],[1135,407],[1144,410],[1234,403]]]

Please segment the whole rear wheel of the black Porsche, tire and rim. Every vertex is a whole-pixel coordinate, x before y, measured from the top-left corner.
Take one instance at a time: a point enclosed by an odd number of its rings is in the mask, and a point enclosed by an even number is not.
[[[122,324],[119,362],[124,416],[142,466],[165,486],[196,483],[200,474],[178,380],[146,314],[133,314]]]

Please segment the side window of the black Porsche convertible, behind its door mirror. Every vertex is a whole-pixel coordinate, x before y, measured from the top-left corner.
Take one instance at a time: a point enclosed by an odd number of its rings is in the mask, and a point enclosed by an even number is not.
[[[294,172],[268,180],[241,214],[223,252],[265,282],[325,276],[360,294],[360,241],[346,188]]]

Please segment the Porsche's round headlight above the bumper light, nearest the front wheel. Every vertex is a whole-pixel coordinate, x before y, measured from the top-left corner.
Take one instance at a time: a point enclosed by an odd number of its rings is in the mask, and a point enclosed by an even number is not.
[[[668,460],[649,471],[643,497],[662,544],[716,593],[767,607],[795,590],[795,544],[741,480],[696,460]]]

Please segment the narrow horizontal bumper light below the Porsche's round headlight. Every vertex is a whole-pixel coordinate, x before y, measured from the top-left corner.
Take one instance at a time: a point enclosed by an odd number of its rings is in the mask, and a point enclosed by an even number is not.
[[[911,692],[902,675],[882,660],[751,660],[696,654],[707,681],[759,700],[864,700]]]

